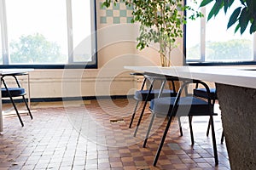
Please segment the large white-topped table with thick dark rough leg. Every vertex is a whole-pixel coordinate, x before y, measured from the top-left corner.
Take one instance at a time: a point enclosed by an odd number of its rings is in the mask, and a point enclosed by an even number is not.
[[[125,69],[215,82],[230,167],[256,169],[256,66],[125,66]]]

